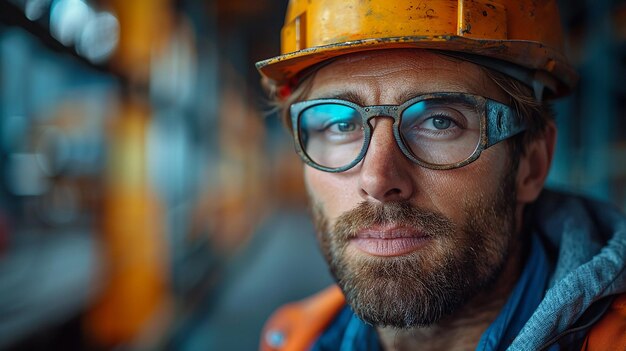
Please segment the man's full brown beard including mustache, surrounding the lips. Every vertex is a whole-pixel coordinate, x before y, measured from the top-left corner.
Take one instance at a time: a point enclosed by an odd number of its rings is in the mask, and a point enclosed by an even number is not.
[[[408,202],[362,202],[331,227],[313,203],[322,252],[354,313],[376,327],[429,326],[492,286],[514,238],[514,174],[494,194],[460,203],[464,223]],[[427,243],[394,257],[347,250],[359,231],[385,225],[416,228]]]

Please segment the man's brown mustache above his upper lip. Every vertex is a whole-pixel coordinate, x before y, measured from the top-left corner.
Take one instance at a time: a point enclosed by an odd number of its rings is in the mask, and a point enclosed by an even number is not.
[[[364,201],[339,216],[332,232],[343,241],[355,238],[368,227],[387,225],[415,228],[432,237],[450,236],[455,230],[454,222],[443,214],[408,202],[374,204]]]

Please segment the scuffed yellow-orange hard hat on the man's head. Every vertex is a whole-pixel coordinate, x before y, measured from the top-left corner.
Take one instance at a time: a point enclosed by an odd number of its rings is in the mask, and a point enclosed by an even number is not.
[[[256,66],[285,86],[340,55],[434,49],[510,74],[536,94],[540,85],[563,95],[577,74],[563,53],[560,23],[556,0],[290,0],[281,55]]]

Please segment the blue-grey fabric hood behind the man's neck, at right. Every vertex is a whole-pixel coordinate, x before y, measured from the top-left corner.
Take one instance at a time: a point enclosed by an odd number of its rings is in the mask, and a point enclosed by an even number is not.
[[[543,301],[509,350],[537,350],[594,302],[626,292],[626,216],[619,209],[546,190],[527,214],[555,269]]]

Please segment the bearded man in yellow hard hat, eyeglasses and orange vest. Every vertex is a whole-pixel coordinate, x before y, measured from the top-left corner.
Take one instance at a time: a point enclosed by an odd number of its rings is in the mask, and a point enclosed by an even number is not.
[[[292,0],[257,67],[338,287],[264,350],[626,350],[626,219],[543,190],[555,1]]]

